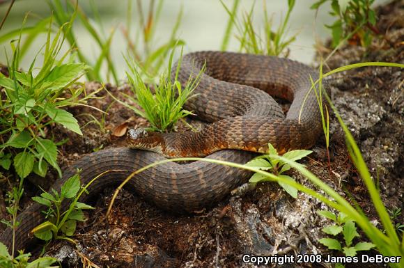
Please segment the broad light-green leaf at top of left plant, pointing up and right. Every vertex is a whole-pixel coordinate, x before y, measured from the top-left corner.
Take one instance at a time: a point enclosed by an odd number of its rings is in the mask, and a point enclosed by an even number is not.
[[[68,63],[56,66],[47,77],[45,77],[43,84],[45,84],[48,89],[53,90],[64,88],[75,81],[85,70],[86,65],[84,63]]]

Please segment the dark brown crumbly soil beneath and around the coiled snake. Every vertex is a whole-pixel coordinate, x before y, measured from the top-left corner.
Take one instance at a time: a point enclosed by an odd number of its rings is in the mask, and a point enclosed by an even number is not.
[[[365,61],[404,63],[404,1],[393,1],[378,8],[378,17],[377,28],[384,38],[375,40],[368,49],[353,45],[342,47],[329,58],[325,68],[332,70]],[[326,58],[329,49],[321,51],[319,58]],[[403,84],[403,70],[398,68],[360,68],[329,78],[332,100],[355,137],[389,210],[404,207]],[[96,82],[86,84],[88,93],[100,87],[102,85]],[[130,93],[127,85],[104,87],[115,96],[122,92]],[[147,125],[146,120],[114,102],[106,90],[100,90],[97,95],[100,98],[88,104],[107,111],[104,118],[102,113],[88,107],[68,110],[83,126],[83,136],[58,125],[49,126],[49,133],[52,132],[56,140],[68,138],[68,142],[59,148],[61,166],[68,166],[81,155],[94,150],[124,146],[125,139],[113,134],[116,127]],[[104,122],[101,127],[88,114]],[[303,163],[341,196],[355,200],[368,218],[382,228],[366,187],[350,161],[344,134],[335,116],[331,116],[330,132],[330,163],[324,138],[319,139],[313,154]],[[302,175],[293,171],[290,175],[300,183],[313,187]],[[31,196],[40,193],[35,185],[47,189],[56,177],[56,172],[46,181],[30,177],[24,187],[22,206],[29,203]],[[1,189],[4,196],[9,187],[3,185]],[[74,237],[77,246],[54,242],[49,246],[47,255],[59,258],[63,267],[91,264],[98,267],[255,267],[243,263],[242,255],[339,255],[336,251],[327,251],[318,242],[326,237],[321,229],[330,222],[318,216],[316,211],[329,208],[302,193],[293,199],[274,183],[258,184],[247,194],[229,196],[212,210],[185,216],[158,210],[124,190],[106,219],[107,205],[113,192],[114,189],[105,189],[94,204],[96,209],[88,214],[88,220],[79,224],[78,234]],[[0,207],[1,217],[7,217],[3,200]],[[404,223],[403,214],[394,222]],[[342,237],[340,240],[343,240]],[[360,241],[366,241],[363,233]],[[366,251],[367,255],[376,253]],[[282,267],[332,265],[306,263],[285,264]]]

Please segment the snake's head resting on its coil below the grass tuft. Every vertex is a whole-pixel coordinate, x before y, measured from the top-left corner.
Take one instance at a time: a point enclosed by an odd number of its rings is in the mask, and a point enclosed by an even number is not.
[[[138,128],[127,131],[127,143],[132,149],[162,153],[165,142],[161,133]]]

